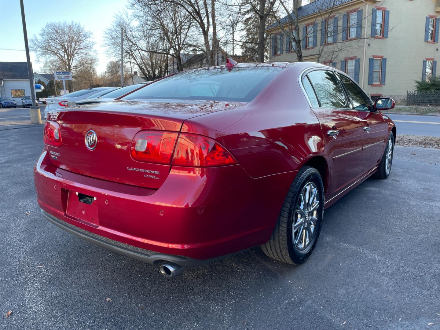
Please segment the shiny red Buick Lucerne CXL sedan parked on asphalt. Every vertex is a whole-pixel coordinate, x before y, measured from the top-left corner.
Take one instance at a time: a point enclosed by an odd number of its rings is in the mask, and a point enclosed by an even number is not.
[[[324,209],[389,176],[396,127],[381,110],[393,107],[312,62],[173,74],[50,112],[38,204],[56,226],[168,277],[257,245],[301,264]]]

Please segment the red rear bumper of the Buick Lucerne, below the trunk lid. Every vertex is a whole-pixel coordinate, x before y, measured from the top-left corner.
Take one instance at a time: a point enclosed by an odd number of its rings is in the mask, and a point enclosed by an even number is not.
[[[267,242],[295,175],[253,179],[240,165],[171,168],[155,190],[59,169],[44,151],[34,181],[44,216],[58,227],[136,259],[192,267]],[[94,223],[67,214],[76,192],[96,198]]]

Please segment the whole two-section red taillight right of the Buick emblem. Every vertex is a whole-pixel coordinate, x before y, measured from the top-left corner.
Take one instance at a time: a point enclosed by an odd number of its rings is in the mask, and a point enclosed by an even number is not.
[[[237,164],[232,155],[213,139],[187,133],[179,135],[175,132],[139,132],[133,139],[130,153],[136,161],[155,164],[187,167]]]

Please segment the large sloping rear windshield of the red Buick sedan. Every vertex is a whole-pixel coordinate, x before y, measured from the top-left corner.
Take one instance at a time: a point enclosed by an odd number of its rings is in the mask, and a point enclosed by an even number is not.
[[[149,84],[122,99],[250,102],[282,69],[260,66],[187,71]]]

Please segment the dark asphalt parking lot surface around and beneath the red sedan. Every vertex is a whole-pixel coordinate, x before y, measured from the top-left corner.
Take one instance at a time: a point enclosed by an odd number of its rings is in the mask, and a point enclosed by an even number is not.
[[[440,325],[440,150],[396,147],[388,180],[369,179],[326,210],[301,266],[256,247],[170,280],[44,220],[33,187],[41,130],[0,131],[0,329]]]

